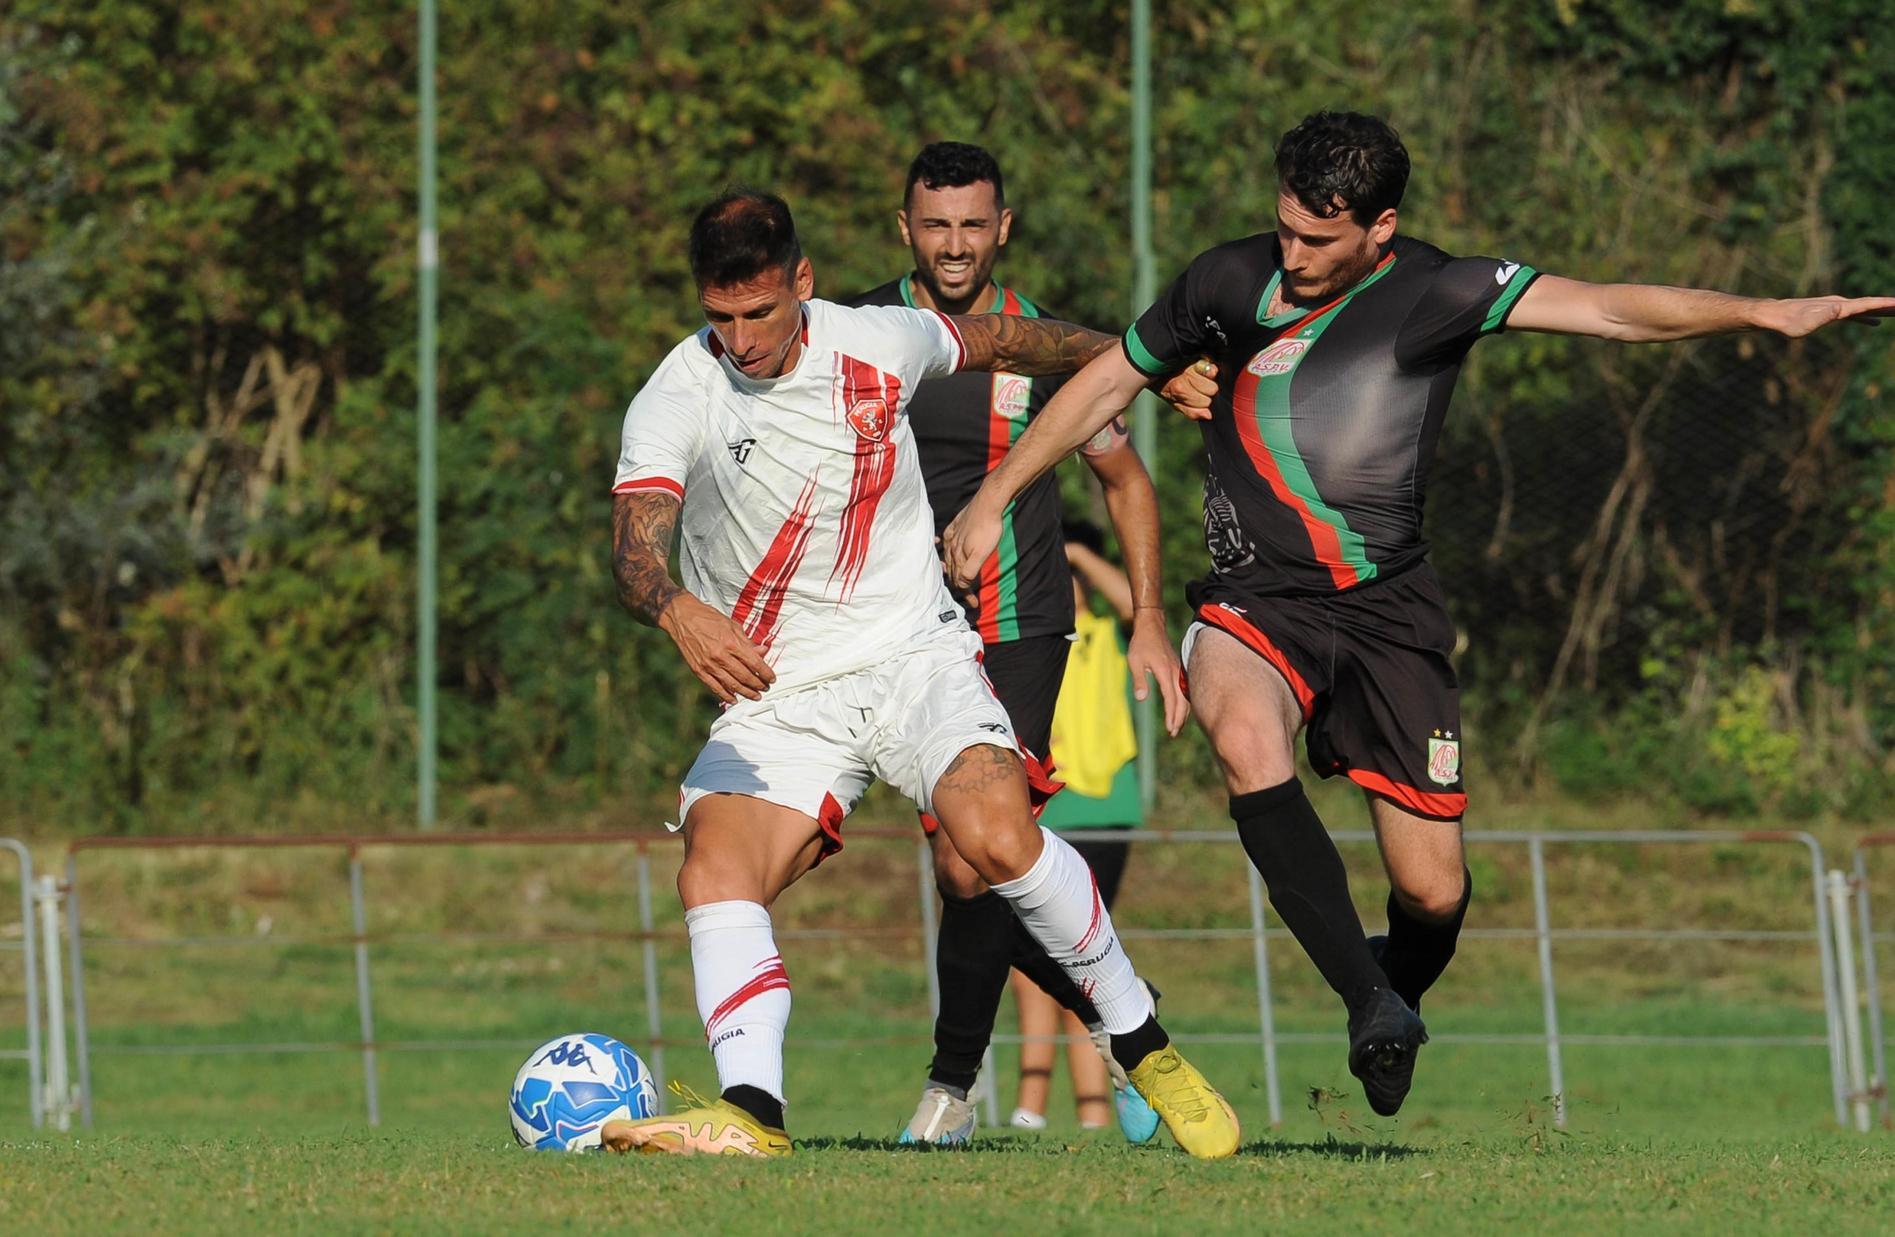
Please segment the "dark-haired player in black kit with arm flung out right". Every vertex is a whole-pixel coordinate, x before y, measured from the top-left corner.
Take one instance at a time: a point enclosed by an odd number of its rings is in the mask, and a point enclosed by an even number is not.
[[[972,578],[999,511],[1158,375],[1203,356],[1211,572],[1188,599],[1192,705],[1272,905],[1349,1012],[1349,1068],[1400,1108],[1427,1042],[1417,1006],[1453,957],[1461,862],[1453,623],[1421,540],[1427,470],[1469,347],[1505,328],[1662,341],[1806,335],[1895,297],[1755,299],[1541,277],[1397,235],[1408,152],[1387,123],[1319,112],[1283,134],[1277,227],[1201,254],[1074,375],[944,534]],[[1200,362],[1201,364],[1201,362]],[[1205,366],[1209,368],[1209,366]],[[1364,940],[1336,847],[1304,796],[1294,737],[1368,796],[1389,932]]]

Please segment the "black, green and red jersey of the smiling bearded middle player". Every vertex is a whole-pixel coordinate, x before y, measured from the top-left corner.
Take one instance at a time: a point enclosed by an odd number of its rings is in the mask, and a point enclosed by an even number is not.
[[[913,275],[849,297],[845,305],[913,305]],[[1012,288],[993,286],[987,313],[1040,316]],[[980,483],[1052,400],[1065,379],[1018,373],[953,373],[927,379],[908,403],[921,475],[934,508],[934,534],[948,529]],[[963,602],[965,604],[965,602]],[[982,640],[1023,640],[1073,631],[1073,572],[1059,532],[1059,483],[1052,472],[1029,485],[1001,517],[1001,547],[980,576],[966,621]]]

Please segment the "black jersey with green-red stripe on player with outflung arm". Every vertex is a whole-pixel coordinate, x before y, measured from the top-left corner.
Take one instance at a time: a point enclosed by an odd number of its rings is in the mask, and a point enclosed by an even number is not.
[[[1203,422],[1213,578],[1330,595],[1427,555],[1421,508],[1469,347],[1507,326],[1537,271],[1397,237],[1361,282],[1270,314],[1275,233],[1201,254],[1126,332],[1139,371],[1218,366]]]

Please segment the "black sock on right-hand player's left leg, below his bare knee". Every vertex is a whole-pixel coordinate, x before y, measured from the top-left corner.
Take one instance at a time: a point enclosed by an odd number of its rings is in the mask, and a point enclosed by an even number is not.
[[[1355,1010],[1368,989],[1387,987],[1349,902],[1349,873],[1302,782],[1292,777],[1281,786],[1230,796],[1230,816],[1264,877],[1270,905],[1342,1002]]]

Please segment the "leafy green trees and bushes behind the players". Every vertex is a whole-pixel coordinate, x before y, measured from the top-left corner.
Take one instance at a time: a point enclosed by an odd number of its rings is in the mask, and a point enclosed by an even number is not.
[[[1349,106],[1448,250],[1895,290],[1882,0],[1158,9],[1164,278],[1270,227],[1275,136]],[[413,818],[415,40],[343,0],[0,15],[0,832]],[[618,612],[606,511],[625,402],[699,322],[690,212],[783,191],[839,296],[906,269],[915,148],[982,142],[1006,282],[1116,330],[1128,17],[468,0],[440,45],[443,816],[652,822],[711,703]],[[1476,779],[1886,809],[1891,385],[1887,328],[1476,349],[1429,496]],[[1154,472],[1181,583],[1194,428]],[[1201,741],[1162,773],[1203,780]]]

